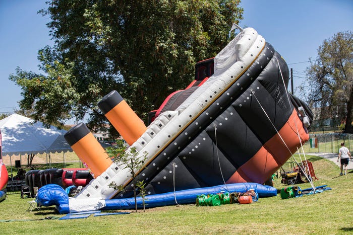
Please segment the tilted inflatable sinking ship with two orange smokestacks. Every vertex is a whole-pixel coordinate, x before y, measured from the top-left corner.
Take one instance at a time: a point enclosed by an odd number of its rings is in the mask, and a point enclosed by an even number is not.
[[[309,139],[312,112],[287,92],[288,80],[284,59],[247,28],[214,58],[197,63],[195,80],[150,112],[147,127],[117,91],[98,107],[129,144],[126,151],[136,149],[138,158],[147,154],[135,171],[147,195],[263,184]],[[65,138],[94,179],[61,202],[62,211],[101,209],[106,200],[132,197],[130,170],[112,162],[83,123]]]

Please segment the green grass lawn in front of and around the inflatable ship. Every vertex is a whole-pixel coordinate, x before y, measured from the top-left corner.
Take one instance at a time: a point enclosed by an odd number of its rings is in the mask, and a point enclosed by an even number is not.
[[[328,185],[332,190],[284,200],[277,195],[246,205],[197,207],[192,204],[152,208],[145,213],[128,210],[130,214],[86,219],[0,222],[0,231],[2,234],[353,233],[353,171],[338,176],[339,168],[334,163],[316,156],[307,155],[307,158],[319,178],[314,182],[315,186]],[[280,179],[274,186],[277,189],[286,187]],[[298,186],[302,189],[311,187],[308,183]],[[8,195],[0,203],[0,219],[64,216],[54,207],[44,207],[40,212],[26,211],[29,200],[21,199],[19,194]]]

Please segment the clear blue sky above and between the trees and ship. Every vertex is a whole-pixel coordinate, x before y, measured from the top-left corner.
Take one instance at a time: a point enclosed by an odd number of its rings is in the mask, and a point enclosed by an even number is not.
[[[293,68],[295,88],[323,40],[353,30],[353,0],[243,0],[241,6],[240,26],[256,29],[282,55]],[[9,75],[17,66],[39,72],[37,52],[52,45],[45,25],[50,19],[37,14],[41,8],[45,0],[0,0],[0,113],[18,109],[22,99]]]

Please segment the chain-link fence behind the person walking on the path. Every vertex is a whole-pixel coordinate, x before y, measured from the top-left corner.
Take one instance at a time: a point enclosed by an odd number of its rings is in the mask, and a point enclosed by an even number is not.
[[[353,149],[353,134],[345,133],[319,133],[309,134],[309,141],[304,145],[305,153],[311,152],[331,152],[338,153],[338,149],[341,147],[341,142],[352,151]],[[299,151],[303,152],[302,149]]]

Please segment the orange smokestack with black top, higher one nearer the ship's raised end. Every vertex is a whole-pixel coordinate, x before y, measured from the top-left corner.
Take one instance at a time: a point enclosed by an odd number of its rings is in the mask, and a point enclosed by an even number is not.
[[[129,145],[140,138],[147,129],[117,91],[104,96],[98,107]]]

